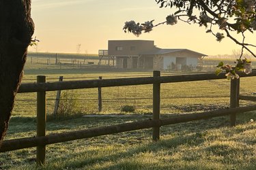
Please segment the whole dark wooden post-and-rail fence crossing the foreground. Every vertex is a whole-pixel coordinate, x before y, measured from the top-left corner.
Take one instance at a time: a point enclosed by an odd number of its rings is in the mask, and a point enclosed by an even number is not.
[[[180,122],[190,122],[193,120],[201,120],[205,118],[213,118],[217,116],[230,115],[231,126],[236,125],[236,114],[256,110],[256,105],[239,107],[239,100],[256,101],[256,97],[246,97],[240,95],[240,79],[231,80],[230,90],[230,108],[218,109],[211,112],[203,112],[200,114],[185,114],[181,116],[173,116],[170,118],[160,119],[160,84],[174,82],[190,82],[200,80],[217,80],[225,79],[225,73],[216,76],[214,73],[200,73],[189,75],[171,75],[160,76],[160,71],[154,71],[153,77],[143,78],[122,78],[109,80],[79,80],[66,82],[46,82],[44,75],[38,75],[37,83],[21,84],[18,92],[37,92],[37,137],[26,137],[21,139],[12,139],[3,141],[0,152],[11,150],[19,150],[23,148],[37,147],[37,163],[42,165],[45,163],[46,145],[59,143],[63,141],[72,141],[76,139],[84,139],[88,137],[97,137],[100,135],[109,135],[114,133],[122,133],[126,131],[134,131],[139,129],[152,128],[152,138],[157,141],[160,138],[160,126],[168,124],[177,124]],[[240,77],[256,76],[256,71],[249,75],[240,73]],[[144,120],[139,122],[131,122],[125,124],[117,124],[112,126],[104,126],[94,129],[85,129],[81,131],[72,131],[67,133],[58,133],[53,135],[46,134],[46,91],[53,90],[70,90],[79,88],[101,88],[111,86],[130,86],[153,84],[153,116],[152,120]]]

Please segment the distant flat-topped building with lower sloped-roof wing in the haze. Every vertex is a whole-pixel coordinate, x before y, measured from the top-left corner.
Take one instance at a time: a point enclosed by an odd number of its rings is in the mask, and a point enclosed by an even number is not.
[[[199,59],[207,56],[188,49],[157,48],[150,40],[109,40],[108,53],[116,58],[119,69],[195,68]]]

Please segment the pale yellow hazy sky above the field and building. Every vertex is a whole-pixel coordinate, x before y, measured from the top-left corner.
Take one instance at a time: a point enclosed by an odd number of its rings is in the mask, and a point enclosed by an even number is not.
[[[76,53],[81,44],[81,53],[97,54],[99,49],[107,49],[109,39],[154,40],[159,48],[188,48],[208,55],[232,54],[239,48],[228,38],[219,43],[205,33],[205,27],[180,21],[160,25],[140,37],[122,30],[125,21],[155,20],[156,24],[169,14],[170,8],[159,8],[155,0],[32,0],[39,52]],[[256,44],[255,35],[248,37],[248,42]]]

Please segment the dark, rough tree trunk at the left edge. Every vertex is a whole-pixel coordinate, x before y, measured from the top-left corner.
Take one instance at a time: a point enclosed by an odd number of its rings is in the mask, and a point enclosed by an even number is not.
[[[0,0],[0,148],[33,35],[31,0]]]

